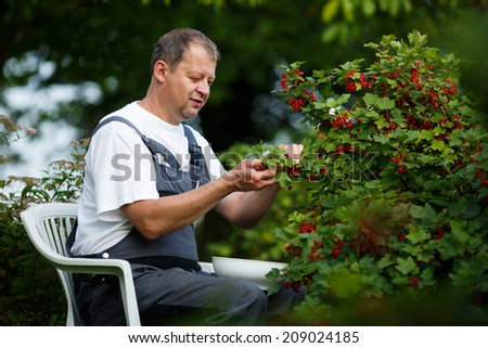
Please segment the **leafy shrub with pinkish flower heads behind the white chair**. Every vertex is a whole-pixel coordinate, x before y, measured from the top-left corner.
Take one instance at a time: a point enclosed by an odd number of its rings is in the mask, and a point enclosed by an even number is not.
[[[23,137],[22,126],[2,116],[5,143]],[[51,164],[42,178],[0,181],[0,325],[64,325],[65,297],[54,268],[25,233],[20,214],[31,204],[75,202],[81,188],[86,143],[73,142],[72,160]]]

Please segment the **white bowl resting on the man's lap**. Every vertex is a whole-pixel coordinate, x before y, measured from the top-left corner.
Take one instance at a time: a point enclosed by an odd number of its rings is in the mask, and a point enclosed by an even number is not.
[[[231,257],[211,258],[214,271],[218,276],[232,278],[243,281],[253,282],[262,289],[268,289],[271,282],[266,279],[266,274],[273,268],[279,270],[288,266],[283,262],[261,261],[251,259],[239,259]]]

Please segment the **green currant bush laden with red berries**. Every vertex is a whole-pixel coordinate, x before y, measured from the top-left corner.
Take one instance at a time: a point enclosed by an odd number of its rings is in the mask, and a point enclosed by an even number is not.
[[[316,131],[292,171],[313,201],[278,231],[293,260],[274,276],[307,288],[297,310],[308,322],[334,322],[350,304],[425,310],[442,298],[449,314],[462,302],[487,323],[488,132],[460,92],[458,60],[416,30],[367,47],[376,60],[365,68],[282,67],[277,93]]]

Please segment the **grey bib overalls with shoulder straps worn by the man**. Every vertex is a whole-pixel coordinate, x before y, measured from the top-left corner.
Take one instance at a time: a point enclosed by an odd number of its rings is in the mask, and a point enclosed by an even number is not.
[[[93,134],[110,121],[127,124],[149,147],[160,197],[194,190],[210,180],[202,150],[187,126],[184,134],[191,155],[189,172],[180,169],[178,160],[164,145],[146,138],[123,117],[103,120]],[[75,233],[76,229],[69,235],[68,250]],[[202,271],[197,263],[193,224],[156,240],[144,239],[133,228],[108,249],[77,257],[116,258],[130,262],[143,325],[260,325],[270,314],[285,315],[304,295],[283,288],[268,298],[253,283]],[[76,274],[74,279],[81,317],[87,325],[125,324],[115,278]]]

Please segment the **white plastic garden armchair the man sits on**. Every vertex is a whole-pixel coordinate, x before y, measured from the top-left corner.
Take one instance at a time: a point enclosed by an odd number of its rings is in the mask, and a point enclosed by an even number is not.
[[[66,325],[82,325],[72,273],[113,274],[120,283],[120,293],[127,325],[140,326],[132,271],[126,260],[69,258],[66,254],[66,236],[72,231],[77,205],[44,203],[21,212],[27,234],[36,249],[56,269],[67,301]]]

